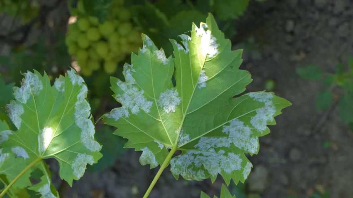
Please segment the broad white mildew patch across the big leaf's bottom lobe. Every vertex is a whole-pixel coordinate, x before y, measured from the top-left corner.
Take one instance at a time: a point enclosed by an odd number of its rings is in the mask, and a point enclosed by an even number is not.
[[[186,180],[203,180],[206,179],[203,169],[214,177],[222,171],[230,174],[241,169],[241,161],[240,154],[225,154],[224,150],[186,151],[170,161],[170,171]]]

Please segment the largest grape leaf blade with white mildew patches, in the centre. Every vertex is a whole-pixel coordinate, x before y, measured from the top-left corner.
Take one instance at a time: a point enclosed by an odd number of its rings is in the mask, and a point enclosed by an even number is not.
[[[173,148],[182,151],[170,161],[175,178],[214,181],[221,174],[227,184],[244,182],[252,167],[245,153],[258,153],[258,137],[291,103],[267,92],[233,98],[252,79],[239,69],[242,50],[231,50],[211,14],[192,25],[191,37],[180,37],[184,46],[170,40],[174,58],[167,58],[142,36],[143,48],[124,65],[125,81],[111,78],[122,107],[104,120],[128,139],[125,147],[142,151],[142,165],[161,165]]]

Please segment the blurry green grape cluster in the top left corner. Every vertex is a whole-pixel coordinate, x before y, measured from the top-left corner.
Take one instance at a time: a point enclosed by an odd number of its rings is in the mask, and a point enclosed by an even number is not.
[[[0,13],[19,16],[24,22],[37,16],[39,7],[36,0],[0,0]]]

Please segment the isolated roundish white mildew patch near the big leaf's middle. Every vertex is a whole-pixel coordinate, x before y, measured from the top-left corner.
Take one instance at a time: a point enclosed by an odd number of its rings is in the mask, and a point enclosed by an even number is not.
[[[166,113],[175,112],[180,103],[181,98],[175,88],[167,89],[165,92],[161,93],[157,101],[158,106]]]

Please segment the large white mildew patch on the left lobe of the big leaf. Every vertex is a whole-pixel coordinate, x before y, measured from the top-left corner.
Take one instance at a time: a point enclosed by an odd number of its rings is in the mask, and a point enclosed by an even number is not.
[[[118,120],[121,116],[128,117],[128,109],[131,110],[133,114],[137,114],[140,109],[146,113],[150,112],[152,101],[149,101],[144,96],[144,91],[139,90],[136,85],[136,81],[132,76],[132,72],[135,70],[132,68],[132,65],[124,65],[124,76],[125,82],[118,81],[117,85],[124,91],[124,94],[116,95],[116,99],[122,104],[122,107],[118,108],[121,110],[116,110],[115,115],[110,115],[114,119]]]

